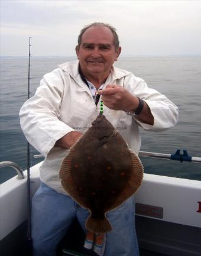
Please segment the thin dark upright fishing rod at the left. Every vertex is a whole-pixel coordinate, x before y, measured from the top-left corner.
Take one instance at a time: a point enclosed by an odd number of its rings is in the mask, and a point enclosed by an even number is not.
[[[28,95],[30,98],[30,49],[31,37],[28,46]],[[28,238],[28,255],[32,255],[32,238],[31,238],[31,186],[30,186],[30,143],[27,141],[27,238]]]

